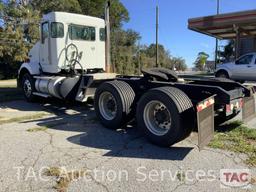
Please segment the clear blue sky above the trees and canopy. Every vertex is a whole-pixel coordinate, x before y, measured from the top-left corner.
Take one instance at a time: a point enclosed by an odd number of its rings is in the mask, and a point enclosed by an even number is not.
[[[204,51],[214,60],[215,39],[187,28],[189,18],[216,14],[217,0],[121,0],[129,11],[125,29],[140,33],[140,44],[155,43],[155,8],[159,6],[159,43],[189,67]],[[220,13],[256,9],[256,0],[220,0]],[[225,42],[220,42],[220,45]]]

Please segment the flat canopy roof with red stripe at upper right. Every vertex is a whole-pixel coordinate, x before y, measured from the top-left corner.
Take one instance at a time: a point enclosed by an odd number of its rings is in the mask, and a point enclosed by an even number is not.
[[[188,20],[188,28],[218,39],[256,36],[256,10],[219,14]]]

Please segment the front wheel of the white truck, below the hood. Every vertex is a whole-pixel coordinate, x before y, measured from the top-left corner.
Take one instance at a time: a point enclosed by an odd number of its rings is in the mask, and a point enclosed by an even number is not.
[[[33,102],[36,100],[36,96],[33,95],[36,92],[35,89],[35,81],[33,77],[29,73],[25,73],[22,77],[22,92],[25,99],[29,102]]]

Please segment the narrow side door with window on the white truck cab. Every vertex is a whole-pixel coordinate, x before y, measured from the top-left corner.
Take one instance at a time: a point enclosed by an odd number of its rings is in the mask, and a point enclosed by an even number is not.
[[[49,22],[41,24],[40,64],[43,68],[49,65]]]

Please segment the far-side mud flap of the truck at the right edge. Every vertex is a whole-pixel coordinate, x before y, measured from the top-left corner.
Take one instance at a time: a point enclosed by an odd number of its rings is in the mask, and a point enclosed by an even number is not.
[[[248,122],[255,116],[255,98],[252,94],[250,97],[244,97],[243,99],[242,118],[244,122]]]

